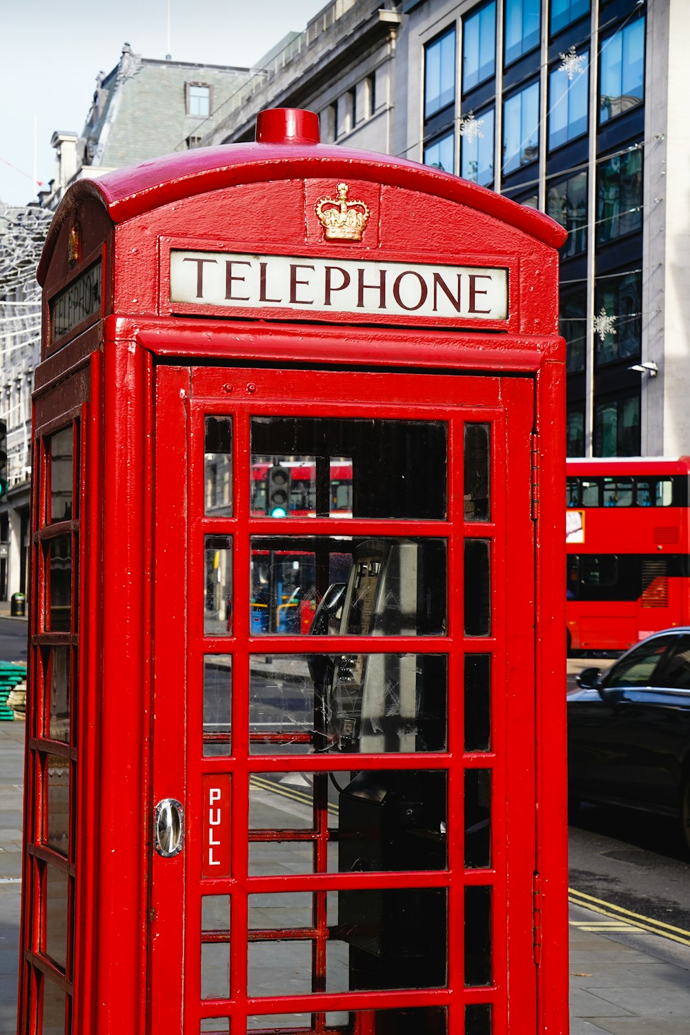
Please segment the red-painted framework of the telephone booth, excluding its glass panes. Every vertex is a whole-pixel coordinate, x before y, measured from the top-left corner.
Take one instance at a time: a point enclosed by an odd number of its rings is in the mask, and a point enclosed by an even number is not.
[[[565,353],[557,291],[564,232],[540,213],[438,170],[321,145],[312,113],[264,113],[258,141],[80,181],[56,213],[41,259],[44,331],[33,426],[34,448],[42,453],[35,465],[32,523],[20,1031],[40,1016],[42,983],[66,994],[72,1031],[80,1035],[116,1028],[132,1035],[198,1035],[211,1017],[242,1032],[247,1015],[291,1012],[313,1017],[313,1031],[322,1035],[327,1010],[350,1012],[358,1035],[373,1035],[372,1011],[412,1007],[447,1009],[455,1033],[472,1004],[491,1005],[493,1035],[528,1029],[565,1035],[565,700],[553,691],[563,684],[565,622],[558,532]],[[361,241],[327,240],[318,218],[318,202],[333,197],[339,182],[369,210]],[[76,219],[84,228],[85,260],[71,268],[66,245]],[[229,261],[222,277],[228,298],[240,299],[243,307],[202,309],[193,301],[173,306],[172,249],[240,260],[288,256],[291,276],[281,297],[292,296],[301,307],[272,301],[277,292],[265,261],[257,272],[264,308],[256,298],[245,301],[246,267],[240,261]],[[102,262],[102,319],[94,315],[93,322],[53,344],[51,301],[94,257]],[[329,270],[324,290],[334,304],[326,314],[310,310],[305,282],[316,260]],[[386,286],[409,312],[336,312],[344,279],[338,269],[347,262],[362,271],[353,276],[362,298],[380,295],[374,261],[403,264]],[[473,322],[472,313],[457,321],[422,317],[416,310],[424,291],[430,296],[438,290],[441,297],[445,288],[438,279],[425,282],[411,269],[415,264],[473,268],[475,315],[486,306],[481,269],[506,269],[507,318],[481,323]],[[190,265],[201,297],[209,267],[203,255]],[[415,284],[419,299],[406,294]],[[443,284],[452,294],[452,283]],[[311,733],[303,729],[249,729],[250,667],[257,658],[304,653],[297,630],[307,632],[317,602],[294,602],[291,634],[264,634],[256,621],[252,626],[257,551],[250,537],[287,534],[284,522],[252,510],[249,419],[271,415],[446,423],[445,518],[364,519],[356,507],[330,518],[300,511],[291,516],[289,531],[447,539],[447,630],[395,638],[394,650],[447,655],[448,750],[382,750],[355,759],[314,750]],[[233,421],[232,514],[209,516],[205,422],[227,417]],[[80,442],[79,512],[63,527],[46,518],[46,456],[50,437],[69,422]],[[468,422],[491,427],[490,522],[473,523],[464,510],[459,479]],[[348,467],[341,466],[343,477]],[[534,522],[537,493],[540,516]],[[71,536],[74,551],[74,607],[66,632],[43,628],[40,619],[52,578],[44,559],[58,535]],[[226,538],[232,540],[233,588],[223,589],[212,634],[205,627],[206,601],[216,591],[207,578],[208,537],[211,556],[227,549]],[[491,630],[484,637],[466,634],[463,627],[463,540],[477,538],[488,541],[490,556]],[[290,550],[274,553],[284,557]],[[37,726],[50,700],[41,684],[43,656],[55,644],[74,653],[76,736],[66,748],[39,736]],[[339,637],[336,646],[338,656],[394,652],[380,635]],[[328,657],[334,641],[310,637],[308,651]],[[463,672],[466,658],[472,661],[475,654],[491,657],[491,743],[490,750],[464,751]],[[217,721],[209,720],[205,708],[207,670],[219,694]],[[71,766],[76,794],[66,861],[42,839],[42,766],[48,755],[60,751]],[[334,870],[338,833],[331,776],[343,785],[353,772],[373,777],[392,770],[403,778],[418,769],[447,774],[448,866]],[[491,860],[490,867],[474,868],[464,857],[463,789],[482,769],[491,770]],[[306,774],[301,783],[281,778],[297,772]],[[256,822],[249,828],[250,799],[267,787],[310,809],[311,824],[293,829],[276,820],[267,829]],[[152,841],[154,808],[163,798],[176,798],[184,808],[183,849],[171,858]],[[280,868],[291,848],[311,860],[311,871]],[[276,868],[256,868],[257,858],[267,857],[278,860]],[[73,903],[64,974],[41,943],[44,905],[36,892],[53,866],[67,874]],[[491,889],[490,981],[466,987],[459,935],[464,896],[481,887]],[[336,941],[328,893],[406,888],[447,895],[445,986],[327,990],[327,949]],[[264,930],[252,924],[249,930],[251,895],[289,892],[310,895],[312,909],[302,927]],[[212,927],[209,901],[220,917]],[[540,955],[533,944],[536,920]],[[443,942],[443,930],[439,937]],[[248,960],[266,945],[289,951],[294,946],[296,953],[306,946],[310,993],[248,996]],[[213,993],[216,998],[203,986],[202,960],[211,949],[230,957],[230,983]],[[31,1030],[42,1035],[40,1021]]]

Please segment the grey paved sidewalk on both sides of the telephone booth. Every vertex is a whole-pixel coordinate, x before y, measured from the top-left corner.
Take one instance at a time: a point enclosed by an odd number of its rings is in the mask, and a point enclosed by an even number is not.
[[[0,722],[0,1035],[16,1033],[23,759],[24,722]],[[570,905],[571,1035],[689,1035],[690,936],[642,919]]]

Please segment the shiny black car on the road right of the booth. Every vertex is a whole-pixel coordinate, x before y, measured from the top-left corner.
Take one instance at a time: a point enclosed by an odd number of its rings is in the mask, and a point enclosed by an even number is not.
[[[690,850],[690,628],[664,629],[568,694],[568,795],[677,818]]]

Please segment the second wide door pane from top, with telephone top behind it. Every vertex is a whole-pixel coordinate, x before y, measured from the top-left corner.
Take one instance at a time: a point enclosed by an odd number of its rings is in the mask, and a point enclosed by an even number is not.
[[[441,635],[444,539],[251,539],[254,634]]]

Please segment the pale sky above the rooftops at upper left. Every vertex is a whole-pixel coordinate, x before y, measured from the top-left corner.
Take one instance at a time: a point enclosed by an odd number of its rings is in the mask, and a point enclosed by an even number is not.
[[[123,42],[145,58],[250,67],[328,0],[0,0],[0,201],[54,176],[56,129],[81,132]],[[170,50],[169,50],[170,9]]]

